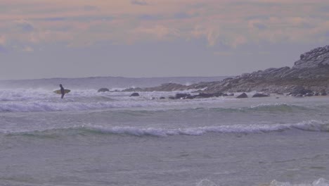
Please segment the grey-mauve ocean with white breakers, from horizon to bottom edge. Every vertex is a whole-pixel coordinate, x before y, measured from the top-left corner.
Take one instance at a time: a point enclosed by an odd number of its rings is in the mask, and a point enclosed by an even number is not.
[[[2,80],[0,185],[329,185],[329,97],[115,91],[221,79]]]

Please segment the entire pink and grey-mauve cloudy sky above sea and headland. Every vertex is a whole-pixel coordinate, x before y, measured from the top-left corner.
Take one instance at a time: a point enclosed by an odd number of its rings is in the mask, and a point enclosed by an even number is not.
[[[0,1],[0,80],[240,75],[328,44],[328,0]]]

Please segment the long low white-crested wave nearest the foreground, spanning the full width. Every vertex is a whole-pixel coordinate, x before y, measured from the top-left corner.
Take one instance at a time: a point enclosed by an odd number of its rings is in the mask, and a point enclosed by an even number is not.
[[[283,132],[285,130],[304,130],[311,132],[329,132],[329,121],[309,120],[302,123],[271,125],[221,125],[197,128],[137,128],[137,127],[103,127],[77,126],[72,128],[54,128],[25,132],[2,131],[4,135],[28,135],[39,137],[56,137],[61,135],[133,135],[167,137],[172,135],[205,135],[207,133],[252,134],[265,132]]]

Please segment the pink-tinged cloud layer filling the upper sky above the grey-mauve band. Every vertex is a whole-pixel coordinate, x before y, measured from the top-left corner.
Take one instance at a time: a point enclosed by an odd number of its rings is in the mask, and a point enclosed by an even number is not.
[[[328,39],[329,1],[295,0],[11,0],[1,1],[7,43],[66,42],[85,46],[174,39],[236,48],[249,42]],[[1,39],[0,39],[1,44]]]

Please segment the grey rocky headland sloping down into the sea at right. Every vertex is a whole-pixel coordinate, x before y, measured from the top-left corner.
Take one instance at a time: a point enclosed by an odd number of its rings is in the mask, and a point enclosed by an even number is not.
[[[229,77],[218,82],[199,82],[193,85],[175,83],[158,87],[131,88],[124,91],[183,91],[195,89],[202,94],[221,95],[222,92],[263,92],[294,96],[324,95],[329,91],[329,45],[300,55],[292,68],[268,68],[253,73]]]

